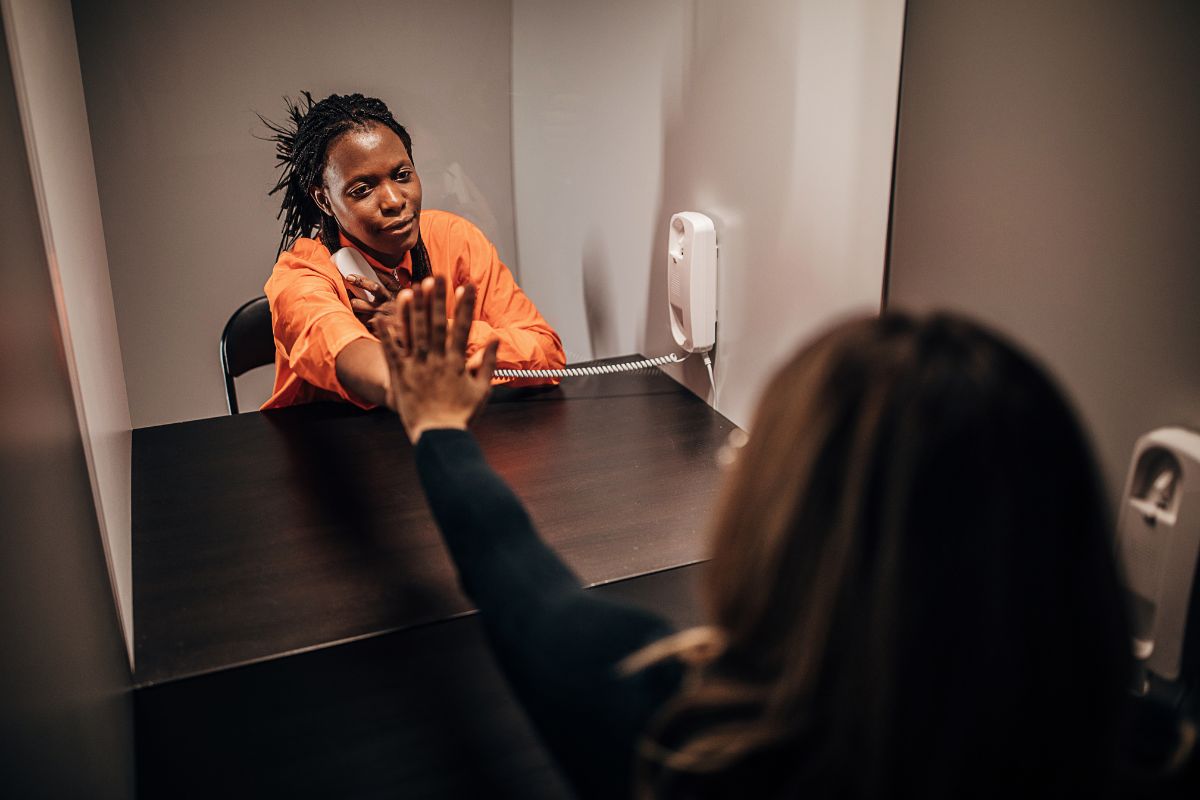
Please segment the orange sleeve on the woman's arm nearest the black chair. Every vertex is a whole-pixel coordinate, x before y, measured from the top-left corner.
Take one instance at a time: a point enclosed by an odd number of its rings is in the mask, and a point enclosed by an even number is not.
[[[300,240],[280,255],[264,287],[271,305],[276,350],[283,365],[302,380],[361,408],[337,380],[337,356],[358,339],[378,339],[350,309],[346,285],[329,251]]]

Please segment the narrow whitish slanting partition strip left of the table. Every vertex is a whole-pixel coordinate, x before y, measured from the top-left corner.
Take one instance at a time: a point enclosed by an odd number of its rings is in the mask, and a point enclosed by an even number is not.
[[[76,414],[132,663],[130,409],[71,5],[4,0],[2,7]]]

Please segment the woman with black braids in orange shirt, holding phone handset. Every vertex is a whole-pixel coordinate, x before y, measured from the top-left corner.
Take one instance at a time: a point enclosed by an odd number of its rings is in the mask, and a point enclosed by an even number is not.
[[[443,277],[449,291],[478,288],[468,353],[481,355],[497,339],[502,366],[563,366],[558,335],[492,242],[462,217],[421,210],[412,138],[383,101],[355,94],[314,102],[305,92],[288,101],[286,122],[263,121],[282,169],[270,193],[283,193],[278,260],[265,287],[276,347],[264,409],[320,399],[383,404],[388,366],[368,325],[386,313],[384,301],[428,276]],[[342,247],[361,253],[378,279],[343,278],[331,255]],[[352,288],[373,301],[352,296]]]

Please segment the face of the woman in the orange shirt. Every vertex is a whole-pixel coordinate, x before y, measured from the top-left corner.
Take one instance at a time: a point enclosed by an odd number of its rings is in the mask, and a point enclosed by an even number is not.
[[[322,180],[312,199],[364,251],[395,266],[416,245],[421,179],[391,128],[371,125],[340,136],[325,152]]]

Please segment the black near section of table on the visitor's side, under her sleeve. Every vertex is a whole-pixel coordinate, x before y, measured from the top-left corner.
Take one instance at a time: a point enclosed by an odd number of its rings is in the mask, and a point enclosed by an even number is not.
[[[697,625],[704,564],[589,589]],[[468,614],[133,693],[138,800],[575,800]]]

